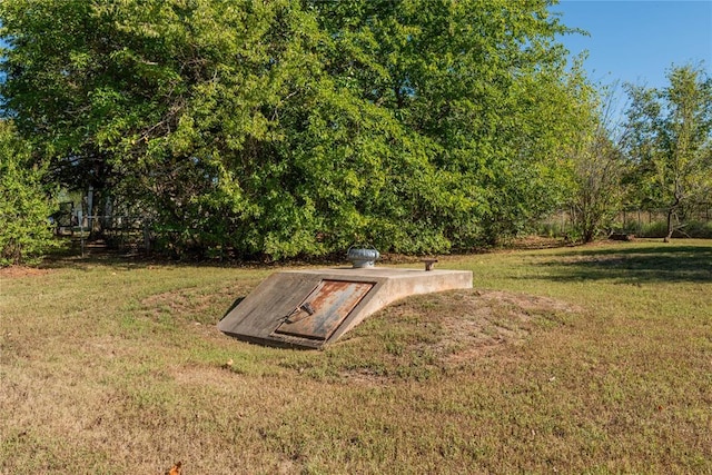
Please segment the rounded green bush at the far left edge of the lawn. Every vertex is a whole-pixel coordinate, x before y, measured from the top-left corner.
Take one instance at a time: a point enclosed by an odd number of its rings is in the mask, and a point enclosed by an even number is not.
[[[29,164],[29,147],[0,120],[0,267],[31,264],[53,245],[44,170]]]

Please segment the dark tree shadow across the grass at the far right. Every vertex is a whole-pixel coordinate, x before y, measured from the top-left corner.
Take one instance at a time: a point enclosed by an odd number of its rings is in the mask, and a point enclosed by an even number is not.
[[[545,265],[555,280],[705,283],[712,281],[712,247],[668,244],[577,250]]]

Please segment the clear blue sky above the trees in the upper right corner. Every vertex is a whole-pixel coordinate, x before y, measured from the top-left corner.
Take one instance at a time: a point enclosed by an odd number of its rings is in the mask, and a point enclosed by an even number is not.
[[[591,34],[561,40],[574,55],[589,51],[594,82],[661,88],[672,65],[700,61],[711,73],[712,0],[562,0],[551,11]]]

